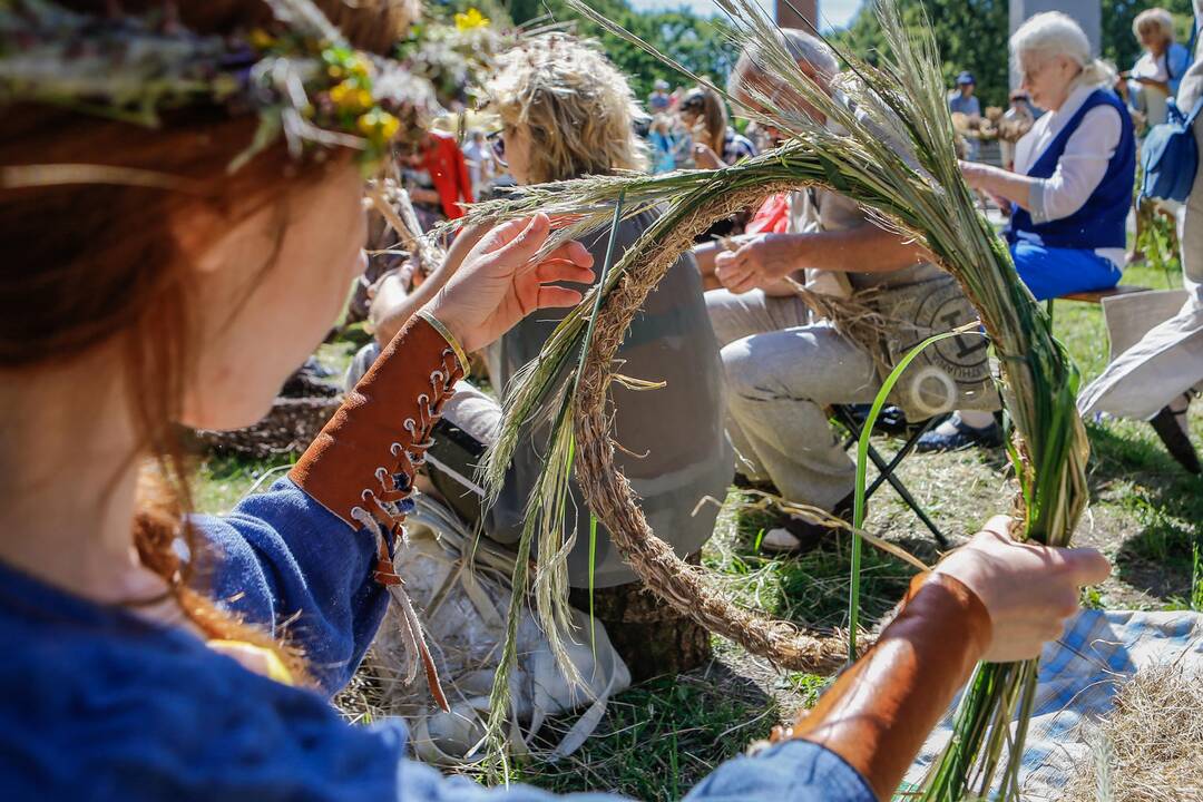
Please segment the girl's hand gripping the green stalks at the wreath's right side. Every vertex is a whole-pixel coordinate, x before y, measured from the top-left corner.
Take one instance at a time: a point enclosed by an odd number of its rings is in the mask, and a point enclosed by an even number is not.
[[[1039,657],[1045,641],[1061,636],[1078,612],[1078,592],[1097,584],[1110,563],[1094,548],[1053,548],[1011,539],[1012,519],[995,516],[968,542],[952,552],[935,574],[960,580],[977,594],[994,625],[988,663]]]

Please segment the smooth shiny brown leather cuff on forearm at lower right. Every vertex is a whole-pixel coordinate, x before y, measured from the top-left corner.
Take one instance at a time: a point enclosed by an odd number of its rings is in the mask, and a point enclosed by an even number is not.
[[[941,574],[917,576],[894,622],[793,736],[835,751],[890,798],[990,636],[990,614],[972,590]]]

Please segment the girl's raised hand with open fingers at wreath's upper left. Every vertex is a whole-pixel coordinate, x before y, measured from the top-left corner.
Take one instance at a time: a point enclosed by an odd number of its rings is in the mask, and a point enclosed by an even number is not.
[[[569,242],[535,261],[550,233],[551,221],[543,213],[490,230],[426,310],[470,352],[538,309],[576,305],[581,292],[553,283],[592,283],[593,256]]]

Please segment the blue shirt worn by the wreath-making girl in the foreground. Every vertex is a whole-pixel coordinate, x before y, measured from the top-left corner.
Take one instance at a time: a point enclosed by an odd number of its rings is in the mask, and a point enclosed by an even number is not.
[[[289,480],[227,518],[197,518],[221,551],[214,598],[279,626],[330,694],[385,610],[372,541]],[[322,694],[247,671],[180,629],[91,604],[0,564],[0,789],[5,800],[535,802],[404,756],[401,720],[345,724]],[[581,800],[614,800],[583,795]],[[790,742],[719,766],[693,802],[872,802],[823,747]]]

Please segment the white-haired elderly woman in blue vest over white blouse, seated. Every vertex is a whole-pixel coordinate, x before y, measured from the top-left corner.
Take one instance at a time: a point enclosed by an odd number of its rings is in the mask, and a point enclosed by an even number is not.
[[[1011,207],[1007,242],[1037,299],[1115,286],[1127,243],[1136,137],[1114,73],[1061,12],[1011,37],[1023,88],[1041,117],[1015,145],[1015,171],[962,162],[970,186]]]

